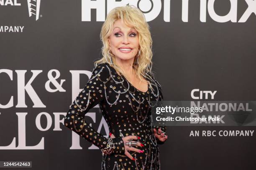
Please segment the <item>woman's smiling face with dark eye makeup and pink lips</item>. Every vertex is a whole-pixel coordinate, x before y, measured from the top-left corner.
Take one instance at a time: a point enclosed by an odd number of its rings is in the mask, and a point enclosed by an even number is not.
[[[135,28],[125,25],[120,19],[116,20],[108,42],[117,62],[122,60],[133,62],[139,47],[138,32]]]

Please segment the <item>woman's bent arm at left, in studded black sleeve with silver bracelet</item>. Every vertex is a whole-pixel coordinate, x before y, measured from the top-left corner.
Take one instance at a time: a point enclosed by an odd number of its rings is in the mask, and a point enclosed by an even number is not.
[[[111,144],[111,153],[121,153],[122,150],[120,148],[123,147],[123,143],[120,143],[119,138],[105,138],[102,134],[97,133],[97,131],[84,119],[84,115],[91,108],[95,107],[98,103],[103,102],[105,99],[105,88],[107,87],[106,85],[110,78],[110,73],[106,65],[100,64],[93,69],[92,76],[84,89],[79,92],[74,99],[74,102],[70,105],[64,119],[64,125],[82,138],[102,149],[102,152],[107,148],[108,144]]]

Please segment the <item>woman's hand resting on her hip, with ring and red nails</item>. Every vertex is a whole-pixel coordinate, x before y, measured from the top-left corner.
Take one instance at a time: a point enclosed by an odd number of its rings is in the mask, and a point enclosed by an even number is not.
[[[115,135],[110,133],[110,138],[115,138]],[[135,160],[135,159],[133,158],[133,156],[128,151],[133,151],[133,152],[137,152],[137,153],[143,153],[144,151],[140,150],[140,149],[137,149],[137,148],[134,148],[134,147],[129,147],[128,145],[125,145],[125,143],[129,143],[129,140],[136,141],[137,139],[140,139],[140,137],[133,136],[133,135],[125,136],[125,137],[122,138],[123,143],[124,143],[124,148],[125,148],[125,153],[124,154],[128,158],[130,158],[131,160]],[[143,147],[144,145],[141,144],[140,142],[137,142],[137,146]]]

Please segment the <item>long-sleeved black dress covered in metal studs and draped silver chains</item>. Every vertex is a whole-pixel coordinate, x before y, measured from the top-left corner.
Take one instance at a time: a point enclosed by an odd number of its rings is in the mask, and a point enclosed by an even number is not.
[[[84,115],[97,104],[110,133],[115,135],[113,153],[102,155],[102,170],[160,170],[158,144],[164,142],[155,138],[153,128],[161,128],[166,133],[166,127],[152,126],[150,115],[151,101],[161,101],[163,96],[159,82],[149,81],[154,84],[153,89],[148,85],[148,91],[142,92],[104,62],[93,69],[87,85],[70,105],[64,124],[82,138],[100,149],[107,146],[108,139],[97,133],[84,119]],[[144,145],[136,146],[143,153],[129,151],[135,161],[124,154],[122,136],[129,135],[139,136],[141,139],[137,141]]]

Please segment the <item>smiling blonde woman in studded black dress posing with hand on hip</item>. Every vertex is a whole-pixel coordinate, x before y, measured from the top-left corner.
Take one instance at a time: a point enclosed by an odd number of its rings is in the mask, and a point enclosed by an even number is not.
[[[159,170],[165,126],[151,126],[151,101],[161,101],[160,84],[151,73],[152,39],[143,13],[116,7],[102,25],[102,59],[69,108],[64,124],[102,150],[102,170]],[[84,115],[95,105],[109,127],[97,133]]]

